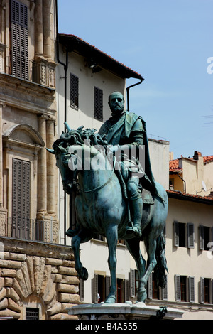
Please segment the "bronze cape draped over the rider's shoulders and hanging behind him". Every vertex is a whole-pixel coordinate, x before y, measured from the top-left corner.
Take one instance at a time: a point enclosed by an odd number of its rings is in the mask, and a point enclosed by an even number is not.
[[[146,122],[143,121],[143,118],[133,112],[125,112],[119,121],[114,124],[114,126],[111,127],[109,121],[102,124],[99,130],[99,134],[107,134],[108,144],[122,145],[122,142],[128,142],[131,130],[137,119],[141,119],[143,124],[143,145],[145,146],[145,174],[143,178],[141,178],[141,184],[144,188],[150,190],[151,193],[158,193],[155,187],[155,180],[151,169],[148,138],[146,134]]]

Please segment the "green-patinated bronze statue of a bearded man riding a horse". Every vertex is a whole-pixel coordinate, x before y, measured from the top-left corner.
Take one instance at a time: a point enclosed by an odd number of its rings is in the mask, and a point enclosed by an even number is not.
[[[64,190],[75,193],[77,228],[67,230],[67,235],[72,237],[78,275],[84,280],[88,278],[87,269],[80,261],[80,244],[97,233],[106,237],[111,286],[105,303],[114,303],[116,244],[118,239],[124,239],[138,269],[137,300],[144,302],[146,283],[153,270],[158,286],[165,287],[166,283],[163,229],[168,197],[163,186],[153,178],[145,122],[124,110],[120,92],[109,96],[109,107],[111,117],[99,133],[83,126],[68,129],[48,151],[55,154]],[[142,240],[147,262],[140,250]]]

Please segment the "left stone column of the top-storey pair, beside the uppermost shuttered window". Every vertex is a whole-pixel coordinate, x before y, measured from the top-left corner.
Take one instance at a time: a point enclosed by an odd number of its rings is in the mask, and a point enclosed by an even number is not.
[[[43,55],[43,0],[35,4],[35,55]]]

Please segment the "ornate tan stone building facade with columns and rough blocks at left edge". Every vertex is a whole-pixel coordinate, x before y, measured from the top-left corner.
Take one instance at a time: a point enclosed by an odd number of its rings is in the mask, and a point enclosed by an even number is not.
[[[55,0],[0,0],[0,318],[70,318],[78,279],[58,245]]]

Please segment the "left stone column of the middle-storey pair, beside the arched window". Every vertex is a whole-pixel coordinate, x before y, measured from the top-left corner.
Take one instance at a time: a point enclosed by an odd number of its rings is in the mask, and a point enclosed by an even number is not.
[[[46,117],[38,117],[38,131],[46,141]],[[45,146],[38,152],[38,212],[47,211],[47,158]]]

